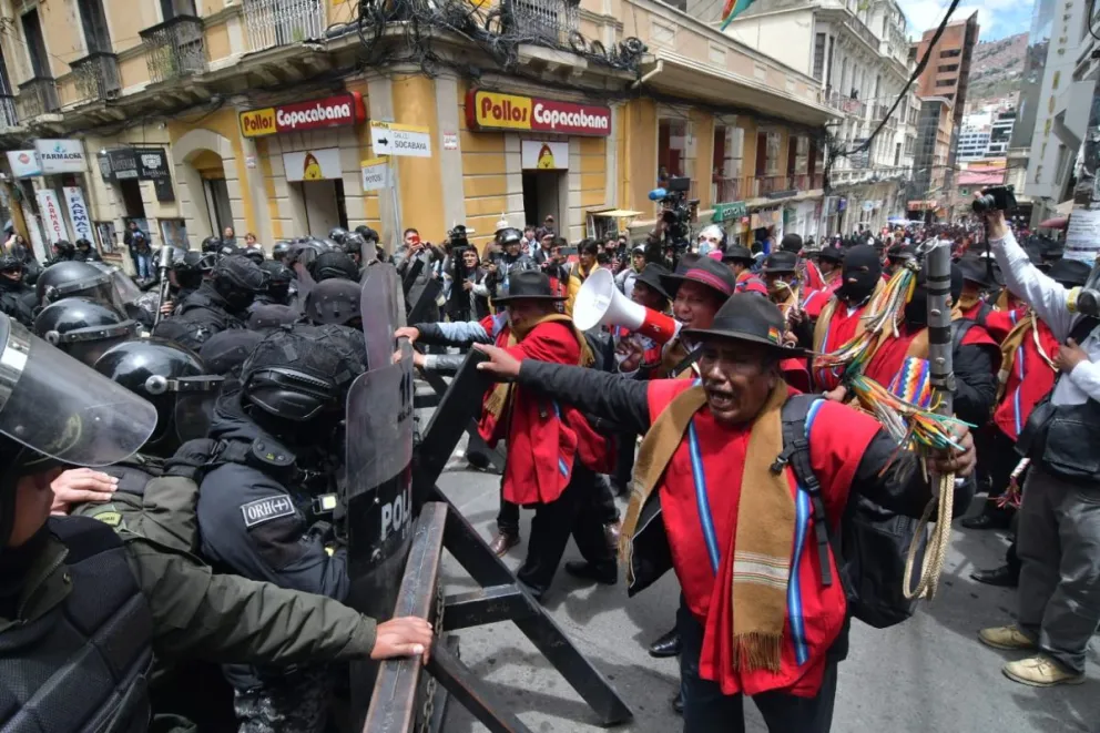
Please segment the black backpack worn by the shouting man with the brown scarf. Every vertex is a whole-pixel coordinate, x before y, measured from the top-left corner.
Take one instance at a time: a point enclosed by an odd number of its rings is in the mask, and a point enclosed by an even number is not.
[[[773,470],[783,470],[790,464],[798,486],[809,495],[822,559],[822,583],[833,583],[828,564],[828,547],[832,546],[848,601],[848,614],[876,629],[886,629],[908,619],[916,608],[916,599],[906,599],[903,587],[905,560],[919,522],[853,495],[841,521],[839,537],[829,531],[821,483],[809,461],[806,435],[811,408],[818,399],[822,398],[817,395],[795,395],[783,405],[783,452]],[[924,564],[927,541],[926,533],[914,561],[915,568]]]

